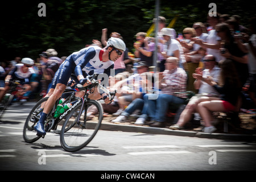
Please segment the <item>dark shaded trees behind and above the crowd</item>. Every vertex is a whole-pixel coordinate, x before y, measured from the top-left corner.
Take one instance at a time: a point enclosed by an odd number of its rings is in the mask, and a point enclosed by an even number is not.
[[[38,4],[46,4],[46,17],[39,17]],[[160,1],[159,15],[167,25],[179,15],[173,28],[182,32],[194,22],[206,22],[209,3],[216,3],[221,14],[240,15],[241,24],[255,16],[256,1]],[[69,56],[79,51],[92,39],[101,39],[102,28],[119,32],[133,52],[134,35],[146,32],[155,16],[154,0],[40,0],[3,1],[1,5],[0,61],[15,56],[36,59],[39,53],[55,48],[58,56]]]

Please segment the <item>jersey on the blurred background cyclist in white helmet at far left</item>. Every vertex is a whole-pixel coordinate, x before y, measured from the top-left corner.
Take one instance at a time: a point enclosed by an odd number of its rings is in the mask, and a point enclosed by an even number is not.
[[[33,68],[28,68],[28,71],[24,73],[22,71],[23,63],[15,65],[15,68],[9,73],[12,80],[19,80],[20,84],[30,84],[30,79],[33,73],[35,73]]]

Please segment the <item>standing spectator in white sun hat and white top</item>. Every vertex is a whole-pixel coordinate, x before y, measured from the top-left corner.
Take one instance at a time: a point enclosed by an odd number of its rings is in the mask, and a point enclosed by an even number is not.
[[[174,37],[171,28],[162,28],[161,33],[165,40],[164,50],[161,52],[162,56],[164,59],[167,59],[168,57],[177,57],[178,67],[183,68],[183,63],[185,63],[183,49],[176,39],[171,39]]]

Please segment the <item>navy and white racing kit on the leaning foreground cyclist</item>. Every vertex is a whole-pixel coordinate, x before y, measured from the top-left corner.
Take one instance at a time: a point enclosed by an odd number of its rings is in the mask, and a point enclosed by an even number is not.
[[[103,53],[104,49],[98,46],[89,46],[80,51],[73,52],[55,73],[51,88],[55,88],[58,83],[67,85],[69,78],[73,74],[76,77],[78,75],[86,77],[97,72],[106,73],[110,76],[110,71],[114,68],[114,62],[111,60],[102,61]]]

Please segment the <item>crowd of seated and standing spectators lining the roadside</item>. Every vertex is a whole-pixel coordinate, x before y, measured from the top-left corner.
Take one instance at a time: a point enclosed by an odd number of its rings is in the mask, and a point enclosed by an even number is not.
[[[195,96],[170,129],[183,129],[192,115],[197,114],[204,121],[201,122],[203,131],[212,133],[216,130],[212,112],[237,114],[245,84],[250,85],[249,96],[256,105],[256,18],[250,19],[248,28],[240,24],[240,19],[238,15],[207,16],[207,23],[195,22],[177,35],[175,29],[166,27],[166,19],[159,16],[156,38],[148,37],[146,32],[135,33],[134,54],[126,48],[114,62],[115,72],[109,79],[110,88],[119,89],[111,106],[104,106],[106,113],[117,116],[112,122],[125,122],[134,115],[138,118],[135,125],[164,127],[171,105],[184,104],[187,91],[192,91]],[[112,32],[109,38],[112,37],[123,39],[118,32]],[[108,29],[104,28],[101,40],[92,40],[92,44],[86,46],[104,48],[107,40]],[[8,84],[6,76],[21,60],[15,57],[8,64],[1,63],[0,89]],[[31,67],[34,73],[30,92],[45,96],[64,60],[65,57],[57,57],[55,49],[40,52]],[[33,97],[35,94],[30,94],[30,98]]]

